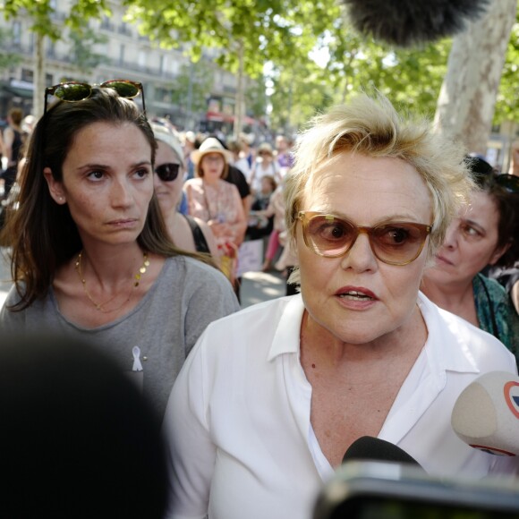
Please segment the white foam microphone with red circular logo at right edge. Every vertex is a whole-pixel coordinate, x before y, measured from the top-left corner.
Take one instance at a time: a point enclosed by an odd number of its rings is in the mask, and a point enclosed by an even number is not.
[[[493,455],[519,455],[519,379],[490,371],[465,387],[451,416],[465,443]]]

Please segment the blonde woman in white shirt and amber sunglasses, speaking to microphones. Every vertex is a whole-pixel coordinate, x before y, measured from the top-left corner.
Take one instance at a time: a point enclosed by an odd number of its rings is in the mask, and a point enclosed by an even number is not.
[[[362,437],[426,472],[515,473],[467,446],[456,398],[481,373],[517,373],[498,339],[420,293],[472,187],[463,149],[360,96],[317,118],[286,179],[301,294],[208,326],[166,411],[168,517],[311,517],[322,482]]]

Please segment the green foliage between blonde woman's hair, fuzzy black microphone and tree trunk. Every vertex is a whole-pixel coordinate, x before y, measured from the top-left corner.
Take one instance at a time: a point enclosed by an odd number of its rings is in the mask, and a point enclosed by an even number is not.
[[[282,128],[287,120],[297,127],[309,114],[343,103],[351,93],[375,89],[400,109],[432,118],[450,45],[446,39],[418,49],[393,49],[359,35],[337,16],[318,39],[326,61],[316,64],[309,56],[276,67],[271,120]]]

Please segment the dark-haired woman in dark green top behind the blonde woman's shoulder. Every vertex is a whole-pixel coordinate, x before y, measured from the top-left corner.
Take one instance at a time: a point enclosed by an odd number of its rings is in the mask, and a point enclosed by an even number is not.
[[[497,175],[481,158],[467,158],[480,190],[472,191],[447,229],[434,267],[421,290],[440,308],[468,320],[505,344],[516,357],[519,316],[505,288],[481,274],[483,268],[512,267],[518,257],[519,179]]]

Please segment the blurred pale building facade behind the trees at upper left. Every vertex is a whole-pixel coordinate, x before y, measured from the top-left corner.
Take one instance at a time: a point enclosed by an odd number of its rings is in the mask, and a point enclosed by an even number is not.
[[[71,4],[71,0],[54,0],[52,4],[53,22],[64,36],[55,42],[45,40],[46,86],[64,80],[100,83],[124,78],[142,82],[149,116],[169,118],[180,129],[197,130],[200,125],[210,126],[211,121],[232,120],[237,78],[214,63],[214,51],[208,50],[201,63],[191,64],[183,48],[158,47],[140,35],[136,25],[124,21],[120,2],[110,5],[111,17],[88,21],[91,39],[82,42],[64,25]],[[32,108],[36,38],[31,24],[28,16],[15,21],[0,20],[0,27],[9,33],[9,38],[2,42],[3,52],[21,57],[19,64],[0,70],[1,118],[11,106],[21,106],[26,114]],[[194,84],[196,74],[192,73],[197,67],[204,67],[212,76],[201,102],[202,93],[196,88],[200,85]]]

